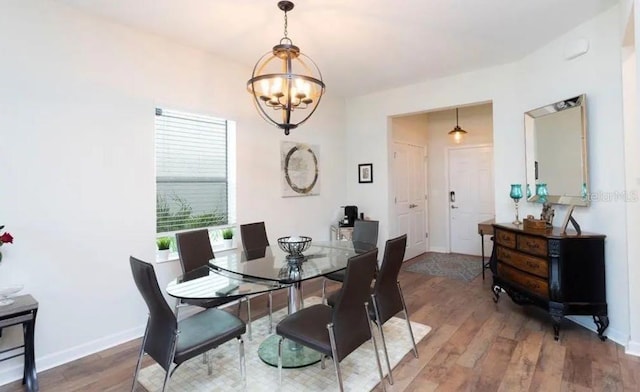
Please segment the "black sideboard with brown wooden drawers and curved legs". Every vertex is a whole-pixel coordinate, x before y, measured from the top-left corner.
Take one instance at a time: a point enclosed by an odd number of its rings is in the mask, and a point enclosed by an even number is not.
[[[609,326],[604,240],[596,233],[563,234],[554,227],[525,231],[522,225],[494,224],[491,255],[494,301],[504,290],[520,305],[536,305],[553,319],[558,340],[566,315],[589,315],[605,340]]]

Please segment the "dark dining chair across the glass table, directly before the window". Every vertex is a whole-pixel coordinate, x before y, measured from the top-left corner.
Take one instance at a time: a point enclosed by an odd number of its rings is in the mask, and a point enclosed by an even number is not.
[[[180,258],[183,275],[196,268],[207,265],[209,260],[215,258],[213,250],[211,249],[209,230],[207,229],[177,233],[176,245],[178,247],[178,256]],[[247,328],[249,331],[249,339],[251,339],[251,302],[247,296],[216,298],[212,300],[183,299],[178,301],[178,304],[215,308],[234,301],[238,301],[238,314],[240,313],[242,301],[246,301],[247,303]]]

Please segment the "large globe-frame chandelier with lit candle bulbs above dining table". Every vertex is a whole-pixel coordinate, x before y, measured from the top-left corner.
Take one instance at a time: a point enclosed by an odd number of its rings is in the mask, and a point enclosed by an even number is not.
[[[284,37],[258,60],[247,90],[258,113],[288,135],[315,112],[325,85],[318,66],[287,36],[287,12],[293,3],[280,1],[278,8],[284,11]]]

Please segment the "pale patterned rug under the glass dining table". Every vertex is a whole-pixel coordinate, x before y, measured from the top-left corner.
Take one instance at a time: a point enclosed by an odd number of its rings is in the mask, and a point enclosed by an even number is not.
[[[305,299],[305,306],[320,302],[318,297]],[[286,309],[274,312],[274,326],[277,320],[286,315]],[[175,371],[169,381],[169,391],[256,391],[271,392],[275,390],[302,392],[302,391],[327,391],[337,390],[333,362],[326,361],[326,367],[322,369],[320,363],[299,369],[282,370],[282,387],[278,382],[278,368],[272,367],[260,360],[258,357],[258,347],[266,339],[268,334],[268,318],[263,317],[254,320],[253,340],[249,341],[245,337],[244,349],[247,367],[246,389],[240,377],[238,360],[238,343],[234,339],[227,342],[209,354],[209,359],[213,361],[213,374],[207,375],[207,365],[202,363],[202,357],[198,356],[182,364]],[[411,328],[415,336],[416,344],[423,339],[431,327],[411,322]],[[381,342],[379,337],[378,342]],[[384,324],[384,334],[389,351],[389,361],[391,366],[396,366],[407,354],[412,346],[407,332],[406,321],[393,317]],[[386,374],[386,365],[381,343],[378,344],[380,350],[380,361],[382,370]],[[411,357],[413,358],[413,356]],[[342,381],[346,391],[370,391],[379,382],[378,368],[373,354],[373,345],[367,342],[351,353],[340,363]],[[164,381],[164,370],[157,364],[150,365],[140,370],[138,380],[149,391],[160,391]]]

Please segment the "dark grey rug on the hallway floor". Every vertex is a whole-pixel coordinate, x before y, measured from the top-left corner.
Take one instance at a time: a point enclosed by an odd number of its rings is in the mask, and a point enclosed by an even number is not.
[[[404,270],[470,282],[482,273],[481,260],[481,256],[427,252]]]

